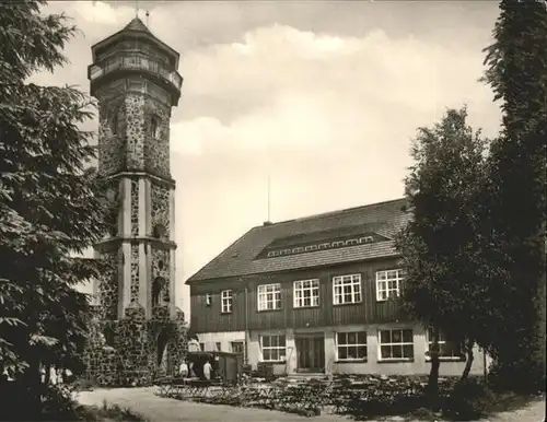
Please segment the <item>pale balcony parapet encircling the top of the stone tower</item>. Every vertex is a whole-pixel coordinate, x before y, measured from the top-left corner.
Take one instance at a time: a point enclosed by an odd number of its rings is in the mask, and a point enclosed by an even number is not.
[[[124,69],[151,72],[170,82],[178,91],[181,91],[183,85],[183,78],[177,72],[167,69],[167,67],[159,60],[146,58],[136,54],[125,54],[92,65],[89,70],[89,78],[90,81],[93,82],[105,74]]]

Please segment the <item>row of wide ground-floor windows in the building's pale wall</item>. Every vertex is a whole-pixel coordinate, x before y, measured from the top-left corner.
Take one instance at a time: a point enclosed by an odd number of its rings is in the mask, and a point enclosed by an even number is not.
[[[427,351],[432,347],[431,330],[427,331]],[[335,353],[338,362],[365,362],[368,342],[365,331],[337,332]],[[412,329],[392,329],[377,331],[377,357],[380,361],[411,361],[414,353]],[[283,362],[287,357],[286,336],[261,336],[260,351],[263,362]],[[429,360],[427,352],[426,359]],[[461,360],[464,354],[459,344],[439,337],[439,356],[443,360]]]

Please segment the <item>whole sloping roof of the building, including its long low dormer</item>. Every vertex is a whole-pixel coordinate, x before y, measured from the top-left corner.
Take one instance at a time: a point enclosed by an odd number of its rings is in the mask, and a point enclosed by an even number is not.
[[[408,222],[396,199],[280,223],[245,233],[186,283],[331,266],[398,255],[394,236]]]

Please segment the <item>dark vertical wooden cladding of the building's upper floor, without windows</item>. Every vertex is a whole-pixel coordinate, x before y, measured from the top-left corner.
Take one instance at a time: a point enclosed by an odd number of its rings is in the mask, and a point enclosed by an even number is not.
[[[383,324],[404,318],[394,301],[376,301],[376,271],[398,269],[396,258],[341,266],[246,276],[190,284],[191,327],[196,332],[269,330],[329,327],[352,324]],[[333,278],[361,274],[361,302],[334,305]],[[294,307],[293,283],[319,280],[318,306]],[[281,308],[258,310],[258,285],[281,284]],[[245,293],[245,285],[247,291]],[[232,312],[222,313],[221,292],[232,291]],[[207,296],[210,295],[210,304]]]

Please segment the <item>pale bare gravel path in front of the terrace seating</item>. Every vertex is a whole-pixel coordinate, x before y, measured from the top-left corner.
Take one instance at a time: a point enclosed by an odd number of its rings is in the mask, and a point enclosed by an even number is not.
[[[304,418],[296,414],[265,409],[235,408],[220,405],[195,403],[167,399],[154,395],[154,388],[116,388],[82,391],[78,400],[82,405],[101,406],[104,400],[140,413],[151,422],[348,422],[350,419],[333,414]],[[401,418],[391,419],[401,421]],[[512,412],[487,418],[484,422],[543,422],[545,420],[545,400],[537,400],[528,407]],[[372,421],[370,421],[372,422]]]

